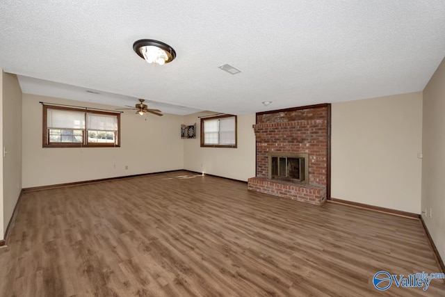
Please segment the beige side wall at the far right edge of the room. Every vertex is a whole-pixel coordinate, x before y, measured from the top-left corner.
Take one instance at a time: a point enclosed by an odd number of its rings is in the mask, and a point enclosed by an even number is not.
[[[445,60],[423,90],[422,214],[445,259]],[[431,216],[430,216],[431,211]]]

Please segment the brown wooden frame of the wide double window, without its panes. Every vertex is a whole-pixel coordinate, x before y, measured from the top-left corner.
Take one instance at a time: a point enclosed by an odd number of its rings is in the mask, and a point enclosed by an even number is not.
[[[47,128],[47,111],[48,109],[56,109],[59,111],[76,111],[82,112],[85,116],[85,129],[83,129],[83,140],[82,143],[49,143],[49,134]],[[86,139],[88,138],[88,127],[86,115],[87,113],[97,114],[97,115],[113,115],[118,118],[118,131],[116,135],[116,140],[118,144],[115,143],[88,143]],[[106,111],[95,111],[94,109],[76,109],[72,107],[65,106],[54,106],[54,105],[43,105],[43,118],[42,118],[42,147],[120,147],[120,113],[112,113]]]

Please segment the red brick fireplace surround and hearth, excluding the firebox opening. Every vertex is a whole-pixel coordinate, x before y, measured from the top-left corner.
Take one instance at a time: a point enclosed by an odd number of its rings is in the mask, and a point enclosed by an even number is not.
[[[323,204],[327,195],[327,131],[329,104],[257,113],[256,177],[248,180],[253,191],[282,198]],[[309,154],[309,184],[268,179],[268,153]]]

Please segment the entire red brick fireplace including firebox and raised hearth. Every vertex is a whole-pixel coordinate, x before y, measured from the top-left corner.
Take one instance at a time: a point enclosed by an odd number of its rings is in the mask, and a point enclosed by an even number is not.
[[[330,104],[257,113],[248,189],[321,205],[330,195]]]

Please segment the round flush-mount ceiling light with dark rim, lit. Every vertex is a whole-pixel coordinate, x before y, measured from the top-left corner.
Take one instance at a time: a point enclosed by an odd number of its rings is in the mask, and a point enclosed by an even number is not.
[[[152,39],[141,39],[133,43],[136,54],[148,63],[164,65],[176,58],[176,51],[164,42]]]

